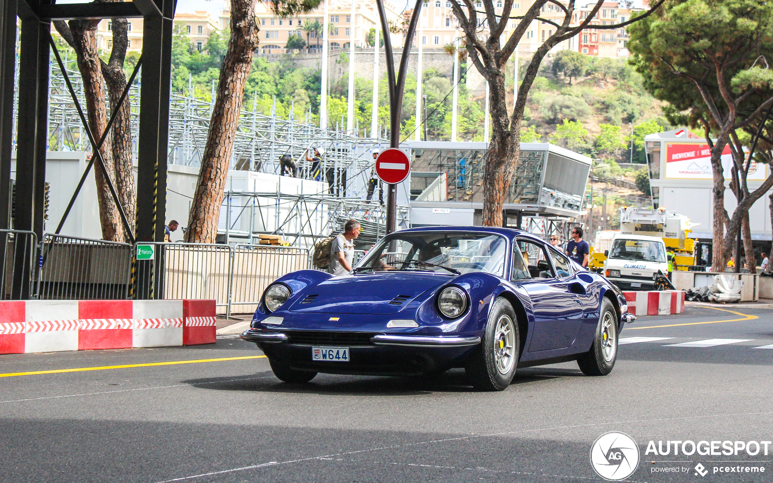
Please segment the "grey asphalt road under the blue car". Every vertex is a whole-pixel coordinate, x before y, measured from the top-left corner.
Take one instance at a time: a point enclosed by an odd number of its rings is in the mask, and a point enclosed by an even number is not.
[[[475,392],[461,370],[290,385],[264,358],[0,377],[0,481],[603,481],[589,452],[613,430],[642,454],[628,481],[773,481],[773,445],[767,457],[645,454],[650,440],[773,440],[773,349],[756,349],[773,345],[773,310],[727,310],[741,315],[640,318],[611,375],[519,369],[502,393]],[[0,372],[255,355],[221,338],[0,355]],[[766,472],[713,472],[730,466]]]

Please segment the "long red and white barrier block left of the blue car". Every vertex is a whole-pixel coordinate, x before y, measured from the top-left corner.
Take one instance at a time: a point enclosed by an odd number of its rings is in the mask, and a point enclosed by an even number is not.
[[[0,301],[0,354],[216,342],[213,300]]]

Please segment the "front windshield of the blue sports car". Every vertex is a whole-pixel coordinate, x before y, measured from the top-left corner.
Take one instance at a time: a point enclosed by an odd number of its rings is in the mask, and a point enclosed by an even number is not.
[[[505,238],[490,233],[398,232],[369,250],[355,270],[487,272],[502,277],[506,253]]]

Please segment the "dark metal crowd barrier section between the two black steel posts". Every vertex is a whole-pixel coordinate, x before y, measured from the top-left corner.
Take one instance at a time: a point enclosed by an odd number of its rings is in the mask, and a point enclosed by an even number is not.
[[[39,250],[37,298],[129,298],[130,244],[45,233]]]

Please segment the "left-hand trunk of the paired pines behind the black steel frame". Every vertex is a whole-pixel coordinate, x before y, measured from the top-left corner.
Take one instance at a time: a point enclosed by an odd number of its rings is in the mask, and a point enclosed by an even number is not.
[[[105,88],[100,58],[97,53],[97,23],[98,20],[70,20],[69,35],[66,36],[61,30],[60,25],[63,22],[56,22],[57,30],[67,39],[69,36],[72,42],[70,45],[77,54],[78,70],[83,79],[83,93],[86,97],[86,114],[89,128],[94,135],[94,141],[98,142],[105,128],[107,128],[107,105],[105,104]],[[68,39],[68,42],[70,42]],[[113,142],[108,136],[102,148],[100,155],[104,162],[107,173],[115,172],[113,162]],[[97,201],[99,202],[100,224],[102,227],[102,238],[111,241],[124,241],[124,228],[121,224],[121,216],[118,214],[117,206],[113,201],[110,189],[104,178],[102,169],[94,165],[94,179],[97,182]]]

